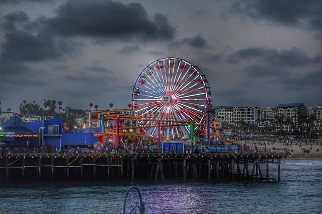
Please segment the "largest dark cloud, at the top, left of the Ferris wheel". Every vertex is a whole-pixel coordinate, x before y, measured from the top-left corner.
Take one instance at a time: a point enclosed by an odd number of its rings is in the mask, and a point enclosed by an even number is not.
[[[151,19],[140,3],[107,0],[70,0],[58,7],[56,17],[41,17],[37,22],[62,36],[171,40],[175,33],[165,15]]]

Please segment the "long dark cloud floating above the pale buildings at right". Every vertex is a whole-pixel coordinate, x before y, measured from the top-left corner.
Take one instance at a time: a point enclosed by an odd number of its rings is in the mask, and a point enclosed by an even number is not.
[[[232,53],[227,61],[238,63],[240,60],[261,61],[269,65],[290,67],[307,65],[312,61],[303,49],[297,47],[280,51],[274,48],[248,47]]]

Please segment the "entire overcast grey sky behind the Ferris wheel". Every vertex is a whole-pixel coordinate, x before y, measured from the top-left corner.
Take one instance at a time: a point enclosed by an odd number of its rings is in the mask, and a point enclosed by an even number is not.
[[[320,0],[2,0],[0,101],[126,108],[141,71],[178,57],[215,106],[322,103]]]

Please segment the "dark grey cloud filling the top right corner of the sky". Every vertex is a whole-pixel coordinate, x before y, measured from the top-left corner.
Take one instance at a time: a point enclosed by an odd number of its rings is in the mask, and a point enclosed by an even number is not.
[[[241,0],[233,4],[231,10],[255,20],[268,20],[308,30],[322,30],[320,0]]]

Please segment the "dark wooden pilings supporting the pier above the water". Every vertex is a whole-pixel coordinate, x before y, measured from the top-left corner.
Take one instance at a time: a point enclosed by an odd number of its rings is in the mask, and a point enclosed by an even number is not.
[[[217,154],[9,154],[0,156],[0,181],[96,181],[268,178],[269,164],[286,155]],[[266,164],[265,177],[261,164]]]

